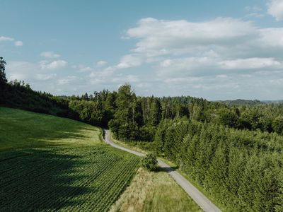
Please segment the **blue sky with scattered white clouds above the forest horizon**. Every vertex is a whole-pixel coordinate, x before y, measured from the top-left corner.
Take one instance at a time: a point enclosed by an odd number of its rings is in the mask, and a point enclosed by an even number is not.
[[[282,99],[282,0],[1,0],[0,20],[8,79],[35,90]]]

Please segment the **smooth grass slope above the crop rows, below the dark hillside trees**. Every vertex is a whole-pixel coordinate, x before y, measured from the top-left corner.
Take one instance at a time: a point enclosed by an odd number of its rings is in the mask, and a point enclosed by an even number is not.
[[[71,119],[0,107],[0,151],[40,146],[93,146],[101,130]]]

